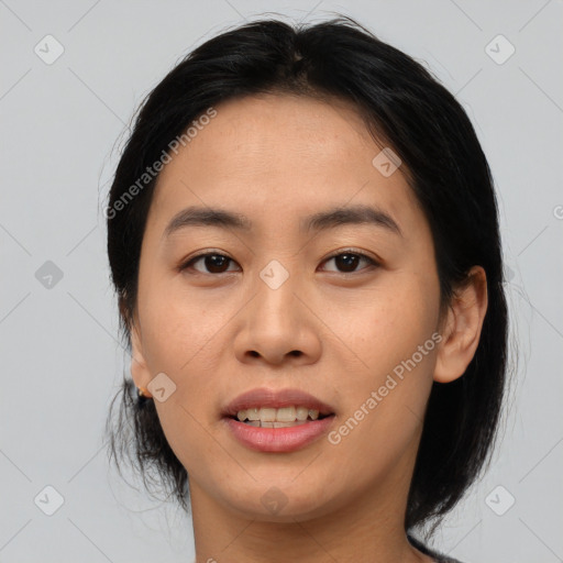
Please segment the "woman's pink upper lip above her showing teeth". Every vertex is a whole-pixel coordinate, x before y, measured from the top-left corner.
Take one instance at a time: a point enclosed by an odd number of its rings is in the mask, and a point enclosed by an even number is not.
[[[253,407],[307,407],[318,410],[320,415],[333,415],[334,410],[317,397],[300,389],[268,389],[261,387],[239,395],[223,410],[227,417],[235,417],[241,410]]]

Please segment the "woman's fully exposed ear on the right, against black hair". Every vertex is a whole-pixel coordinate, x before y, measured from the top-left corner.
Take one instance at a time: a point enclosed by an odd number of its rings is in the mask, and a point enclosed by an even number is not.
[[[482,266],[473,266],[467,283],[455,291],[448,309],[434,382],[450,383],[465,373],[479,343],[487,302],[487,276]]]

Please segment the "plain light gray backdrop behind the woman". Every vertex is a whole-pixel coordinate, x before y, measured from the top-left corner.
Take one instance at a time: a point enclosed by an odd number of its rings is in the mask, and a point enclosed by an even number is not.
[[[192,46],[264,12],[352,15],[468,111],[498,190],[518,363],[504,440],[435,547],[465,563],[563,561],[563,4],[317,2],[0,0],[1,562],[191,561],[189,517],[108,470],[103,423],[129,363],[101,205],[143,97]],[[64,47],[52,64],[34,52],[56,54],[47,34]],[[503,64],[498,34],[516,48]],[[47,485],[64,498],[53,516]]]

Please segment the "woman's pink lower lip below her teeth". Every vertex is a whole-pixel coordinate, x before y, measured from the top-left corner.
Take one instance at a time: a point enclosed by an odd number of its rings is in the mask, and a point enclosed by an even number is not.
[[[258,452],[292,452],[325,434],[334,415],[289,428],[258,428],[224,418],[229,430],[243,445]]]

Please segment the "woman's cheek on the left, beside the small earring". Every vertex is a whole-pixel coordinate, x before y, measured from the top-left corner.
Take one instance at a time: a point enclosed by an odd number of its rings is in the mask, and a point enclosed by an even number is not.
[[[233,312],[180,284],[153,280],[140,287],[139,314],[147,369],[153,377],[165,373],[175,384],[166,401],[155,402],[158,418],[176,455],[188,461],[209,441],[202,428],[214,416],[209,405],[221,373],[217,346]]]

